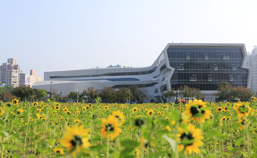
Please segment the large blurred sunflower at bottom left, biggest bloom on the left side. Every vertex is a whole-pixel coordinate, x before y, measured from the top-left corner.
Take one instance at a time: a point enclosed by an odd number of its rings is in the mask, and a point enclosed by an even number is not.
[[[67,133],[63,134],[63,139],[59,140],[63,147],[66,147],[67,151],[74,149],[72,152],[73,156],[76,157],[76,147],[77,151],[80,152],[81,149],[87,149],[91,147],[89,143],[89,131],[90,129],[84,129],[82,126],[75,124],[73,128],[67,127]]]

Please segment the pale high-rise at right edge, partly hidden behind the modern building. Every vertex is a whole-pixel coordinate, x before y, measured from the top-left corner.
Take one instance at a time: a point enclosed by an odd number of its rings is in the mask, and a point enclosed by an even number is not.
[[[251,90],[257,92],[257,46],[254,46],[252,52],[247,52],[246,66],[252,69],[252,80],[251,80]]]

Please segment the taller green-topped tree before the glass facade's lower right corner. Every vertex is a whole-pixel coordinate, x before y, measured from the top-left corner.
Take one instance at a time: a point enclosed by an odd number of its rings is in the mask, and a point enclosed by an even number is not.
[[[234,100],[234,96],[232,95],[232,85],[228,82],[220,82],[220,86],[217,89],[217,93],[213,93],[214,96],[218,97],[219,101],[223,100]]]

